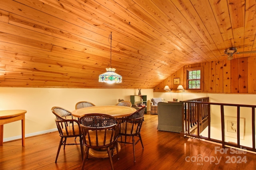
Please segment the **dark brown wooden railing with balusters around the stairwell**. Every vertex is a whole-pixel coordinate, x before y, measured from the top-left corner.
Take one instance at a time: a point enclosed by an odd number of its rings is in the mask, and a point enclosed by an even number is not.
[[[216,143],[221,143],[222,147],[230,146],[236,147],[238,149],[243,148],[246,150],[250,150],[256,152],[255,148],[255,105],[243,105],[243,104],[222,104],[222,103],[211,103],[209,102],[209,98],[198,98],[192,100],[181,101],[184,104],[183,110],[183,120],[184,124],[182,127],[182,132],[180,133],[181,136],[189,136],[195,137],[198,139],[204,139],[207,141],[212,141]],[[211,113],[210,108],[211,106],[220,106],[220,117],[221,117],[221,140],[212,139],[211,138]],[[237,117],[237,142],[226,142],[225,141],[225,122],[224,122],[224,106],[233,106],[236,107],[236,117]],[[251,124],[252,128],[252,147],[249,146],[242,146],[240,145],[240,108],[247,107],[251,108],[251,117],[252,121],[246,121],[246,124]],[[203,137],[200,133],[208,126],[208,137]],[[248,134],[247,134],[248,136]]]

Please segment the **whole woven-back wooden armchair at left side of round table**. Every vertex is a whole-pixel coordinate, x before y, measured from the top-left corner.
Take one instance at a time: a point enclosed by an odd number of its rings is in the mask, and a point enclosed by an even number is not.
[[[79,121],[72,119],[71,112],[62,107],[52,107],[52,113],[56,116],[55,122],[61,137],[55,162],[57,162],[62,145],[64,145],[64,149],[66,145],[80,145],[83,159],[82,132],[80,130]],[[79,137],[80,143],[66,143],[69,137]]]

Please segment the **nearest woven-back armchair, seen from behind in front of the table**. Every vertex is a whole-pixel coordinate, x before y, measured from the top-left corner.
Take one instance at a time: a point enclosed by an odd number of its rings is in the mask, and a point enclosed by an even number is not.
[[[115,148],[118,156],[118,120],[110,115],[91,113],[83,115],[80,117],[79,121],[82,129],[84,145],[86,146],[82,169],[84,169],[86,159],[88,159],[89,149],[94,149],[108,153],[108,158],[113,170],[114,165],[112,156]]]

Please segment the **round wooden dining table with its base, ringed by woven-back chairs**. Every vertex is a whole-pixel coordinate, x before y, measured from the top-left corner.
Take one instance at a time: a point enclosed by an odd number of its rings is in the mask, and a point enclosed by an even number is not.
[[[107,115],[111,115],[113,117],[125,117],[128,116],[136,111],[133,107],[127,107],[127,106],[92,106],[92,107],[84,107],[80,109],[76,109],[72,111],[72,116],[74,117],[81,117],[82,115],[89,114],[89,113],[103,113]],[[118,151],[121,150],[121,146],[118,143]],[[94,156],[96,158],[107,158],[108,152],[106,151],[99,151],[90,149],[89,154],[91,156]],[[114,150],[114,154],[116,154],[116,151]]]

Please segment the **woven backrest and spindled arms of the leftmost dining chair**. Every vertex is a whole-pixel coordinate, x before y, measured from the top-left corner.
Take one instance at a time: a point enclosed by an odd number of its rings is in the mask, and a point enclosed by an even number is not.
[[[80,125],[76,119],[72,119],[71,112],[62,107],[52,107],[52,113],[56,116],[55,122],[62,137],[76,137],[81,135]],[[68,116],[71,119],[66,119]]]

